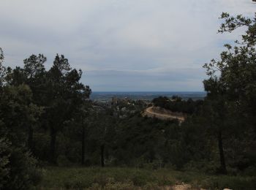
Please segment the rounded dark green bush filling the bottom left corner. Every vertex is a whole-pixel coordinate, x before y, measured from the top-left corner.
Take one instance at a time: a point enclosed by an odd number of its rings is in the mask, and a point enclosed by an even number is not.
[[[28,189],[41,180],[37,160],[24,148],[14,147],[5,139],[0,140],[0,188]]]

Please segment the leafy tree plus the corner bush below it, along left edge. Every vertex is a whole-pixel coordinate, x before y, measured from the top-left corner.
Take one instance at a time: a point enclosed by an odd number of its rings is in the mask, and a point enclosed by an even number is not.
[[[39,180],[37,160],[24,144],[27,126],[36,122],[41,112],[40,107],[31,103],[31,96],[26,85],[7,85],[0,93],[0,180],[3,189],[29,189]]]

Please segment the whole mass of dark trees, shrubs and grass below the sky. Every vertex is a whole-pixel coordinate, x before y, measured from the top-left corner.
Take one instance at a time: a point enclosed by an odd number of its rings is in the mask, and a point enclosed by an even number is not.
[[[222,18],[219,32],[247,30],[204,66],[206,99],[152,102],[187,113],[182,124],[143,118],[141,101],[92,102],[81,70],[64,56],[49,70],[41,54],[11,69],[0,49],[0,189],[255,189],[256,15]]]

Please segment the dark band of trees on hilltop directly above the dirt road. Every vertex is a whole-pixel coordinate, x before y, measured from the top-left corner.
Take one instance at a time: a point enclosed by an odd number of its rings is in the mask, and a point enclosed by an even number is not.
[[[169,99],[166,96],[159,96],[153,99],[152,103],[154,106],[163,107],[172,112],[193,114],[196,113],[200,106],[203,105],[203,100],[193,100],[191,98],[182,100],[179,96],[173,96]]]

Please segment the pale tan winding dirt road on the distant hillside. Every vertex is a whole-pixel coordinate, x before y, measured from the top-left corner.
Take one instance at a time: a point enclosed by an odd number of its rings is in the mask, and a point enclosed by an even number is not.
[[[183,122],[185,120],[184,116],[172,115],[171,113],[159,113],[153,110],[154,107],[146,108],[143,115],[147,115],[148,117],[156,117],[159,119],[167,120],[167,119],[178,119],[178,121]]]

